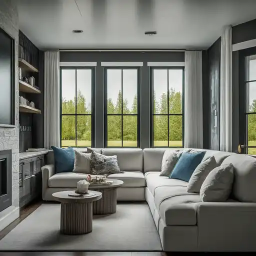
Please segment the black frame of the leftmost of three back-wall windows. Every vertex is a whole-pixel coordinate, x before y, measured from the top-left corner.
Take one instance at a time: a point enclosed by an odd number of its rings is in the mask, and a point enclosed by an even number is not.
[[[75,113],[74,114],[62,114],[62,70],[63,69],[74,69],[75,70]],[[77,69],[90,69],[91,70],[91,113],[90,114],[77,114],[76,113],[76,96],[77,96]],[[87,147],[87,146],[77,146],[77,136],[76,136],[76,117],[77,116],[85,116],[90,115],[91,118],[91,147],[95,146],[95,67],[94,66],[60,66],[59,68],[59,84],[60,84],[60,120],[59,120],[59,128],[60,128],[60,147],[66,147],[61,145],[61,129],[62,129],[62,116],[70,115],[75,116],[75,146],[72,147]]]

